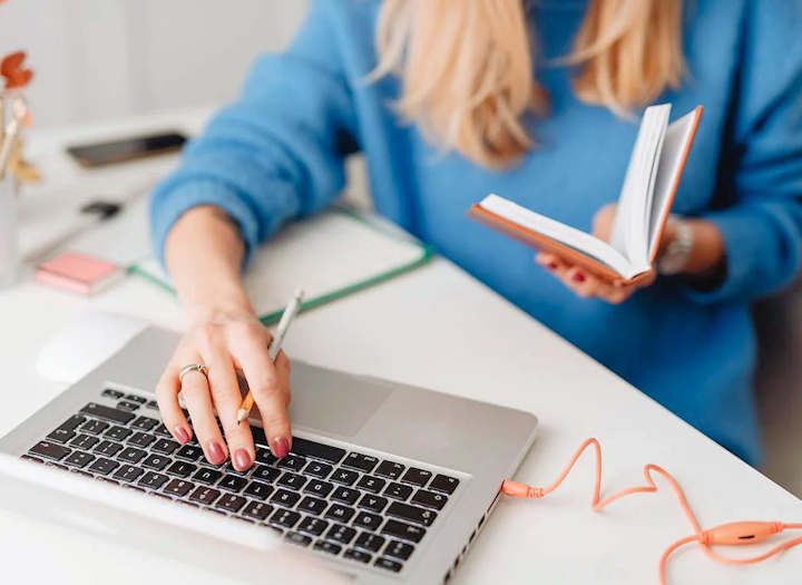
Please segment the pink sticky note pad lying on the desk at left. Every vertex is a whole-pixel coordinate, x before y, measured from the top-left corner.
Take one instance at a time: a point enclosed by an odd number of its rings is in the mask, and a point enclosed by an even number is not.
[[[67,252],[39,264],[36,279],[41,284],[89,295],[117,282],[124,274],[114,262]]]

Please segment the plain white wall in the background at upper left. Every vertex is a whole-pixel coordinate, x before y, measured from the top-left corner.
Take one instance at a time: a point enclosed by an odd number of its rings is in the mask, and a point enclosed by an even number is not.
[[[0,52],[28,51],[37,127],[233,98],[306,0],[8,0]]]

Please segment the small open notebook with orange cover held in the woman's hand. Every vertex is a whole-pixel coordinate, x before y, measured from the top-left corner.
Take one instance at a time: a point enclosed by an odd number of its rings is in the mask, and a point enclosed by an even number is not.
[[[488,195],[472,205],[469,215],[605,280],[635,282],[645,277],[653,271],[702,106],[672,124],[668,124],[669,114],[669,104],[652,106],[644,113],[618,196],[609,242],[498,195]]]

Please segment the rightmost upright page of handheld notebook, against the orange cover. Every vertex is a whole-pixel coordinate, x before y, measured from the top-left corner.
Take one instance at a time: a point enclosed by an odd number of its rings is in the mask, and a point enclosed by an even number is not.
[[[672,194],[679,178],[678,175],[682,170],[685,154],[691,147],[697,117],[698,113],[693,110],[682,118],[674,120],[666,130],[648,223],[649,257],[658,245],[657,237],[659,234],[657,231],[671,211]]]

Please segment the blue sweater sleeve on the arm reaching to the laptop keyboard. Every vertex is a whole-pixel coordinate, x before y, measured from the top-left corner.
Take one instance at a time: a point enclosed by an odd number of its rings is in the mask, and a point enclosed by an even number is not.
[[[287,50],[255,61],[239,98],[212,118],[156,187],[150,232],[160,260],[167,234],[192,207],[228,213],[247,259],[283,222],[320,209],[343,188],[356,129],[333,6],[314,2]]]

